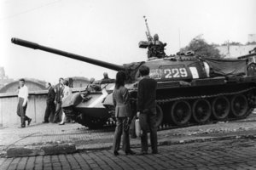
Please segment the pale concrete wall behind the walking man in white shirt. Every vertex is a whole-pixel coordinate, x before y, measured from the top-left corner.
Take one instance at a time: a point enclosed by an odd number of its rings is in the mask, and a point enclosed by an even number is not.
[[[44,111],[46,108],[47,90],[30,92],[26,116],[32,118],[32,123],[44,121]],[[11,127],[20,125],[20,116],[17,116],[17,94],[0,94],[0,126]]]

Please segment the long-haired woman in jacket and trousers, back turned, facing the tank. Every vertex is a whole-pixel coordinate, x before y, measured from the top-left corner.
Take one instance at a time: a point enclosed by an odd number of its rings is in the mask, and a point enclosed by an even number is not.
[[[131,123],[131,105],[128,89],[125,88],[125,72],[116,74],[115,87],[113,90],[113,105],[115,107],[116,127],[113,138],[113,155],[119,155],[121,136],[123,134],[123,150],[126,155],[134,155],[130,147],[129,124]]]

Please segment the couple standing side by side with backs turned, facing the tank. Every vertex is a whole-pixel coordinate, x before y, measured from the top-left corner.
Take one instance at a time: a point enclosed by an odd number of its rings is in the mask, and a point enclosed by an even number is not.
[[[130,147],[129,126],[132,112],[129,101],[129,92],[125,88],[125,72],[119,71],[116,75],[115,88],[113,90],[113,105],[115,106],[116,128],[113,139],[113,155],[119,155],[121,136],[123,139],[122,149],[126,155],[146,155],[148,154],[148,129],[152,154],[157,154],[157,127],[156,127],[156,81],[149,77],[149,68],[142,65],[139,68],[142,79],[138,82],[137,92],[137,117],[142,130],[141,144],[142,150],[135,153]]]

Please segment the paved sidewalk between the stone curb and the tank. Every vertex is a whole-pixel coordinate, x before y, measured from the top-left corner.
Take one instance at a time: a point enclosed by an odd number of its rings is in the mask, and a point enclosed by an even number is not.
[[[11,148],[52,147],[65,144],[73,144],[76,150],[110,149],[113,143],[113,130],[114,127],[89,130],[77,123],[67,123],[64,126],[48,123],[32,124],[26,128],[1,127],[0,152],[1,156],[6,156],[6,151]],[[256,137],[256,114],[235,122],[218,122],[158,132],[160,145],[243,137]],[[140,139],[131,139],[131,147],[139,146]]]

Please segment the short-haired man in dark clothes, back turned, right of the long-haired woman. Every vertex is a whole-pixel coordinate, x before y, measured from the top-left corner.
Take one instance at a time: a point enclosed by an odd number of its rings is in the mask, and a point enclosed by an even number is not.
[[[138,83],[137,117],[142,129],[142,150],[138,155],[148,154],[148,128],[152,154],[157,154],[157,127],[156,127],[156,81],[149,77],[149,68],[142,65],[139,72],[143,79]]]

